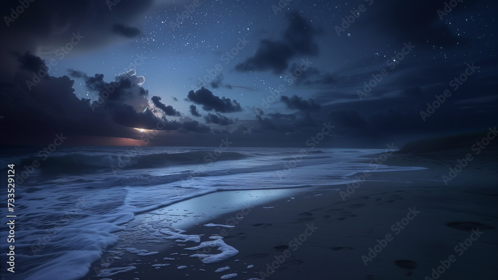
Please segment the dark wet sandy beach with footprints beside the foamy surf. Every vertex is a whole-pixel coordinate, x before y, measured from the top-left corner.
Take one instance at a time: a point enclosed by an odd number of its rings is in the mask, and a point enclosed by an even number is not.
[[[137,215],[108,258],[109,268],[135,269],[108,278],[220,279],[237,274],[234,279],[497,279],[496,150],[476,156],[448,186],[442,180],[467,152],[394,154],[384,164],[428,169],[372,173],[348,195],[337,190],[346,192],[348,186],[224,191]],[[204,226],[230,224],[237,214],[243,218],[233,228]],[[186,230],[184,234],[204,234],[201,242],[225,236],[225,243],[239,253],[204,264],[189,257],[195,251],[184,249],[199,243],[166,240],[144,227],[151,221],[169,221]],[[119,249],[125,247],[158,253],[138,256]],[[217,253],[216,248],[210,252]],[[157,264],[165,266],[153,266]],[[94,267],[101,267],[100,262]],[[85,279],[105,278],[93,276],[91,269]]]

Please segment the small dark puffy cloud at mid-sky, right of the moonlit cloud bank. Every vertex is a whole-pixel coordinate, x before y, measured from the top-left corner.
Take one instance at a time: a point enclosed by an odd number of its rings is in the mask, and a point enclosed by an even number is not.
[[[206,111],[216,111],[221,113],[241,112],[242,107],[236,100],[226,97],[218,97],[208,89],[202,87],[196,92],[190,91],[187,100],[202,105]]]

